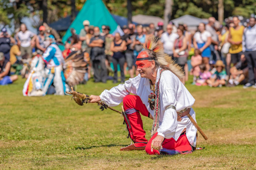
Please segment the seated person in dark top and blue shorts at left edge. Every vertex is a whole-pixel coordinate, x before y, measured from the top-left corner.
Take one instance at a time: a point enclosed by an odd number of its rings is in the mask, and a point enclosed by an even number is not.
[[[5,60],[4,53],[0,52],[0,85],[11,84],[18,79],[17,75],[11,76],[11,62]]]

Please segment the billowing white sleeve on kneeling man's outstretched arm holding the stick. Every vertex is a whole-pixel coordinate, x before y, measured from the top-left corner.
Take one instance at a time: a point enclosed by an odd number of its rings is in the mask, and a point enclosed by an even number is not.
[[[119,105],[123,101],[123,98],[126,95],[129,95],[130,92],[136,94],[136,88],[133,85],[133,79],[134,78],[130,78],[129,80],[125,81],[125,84],[119,84],[110,90],[104,90],[101,95],[99,95],[99,97],[109,106]]]

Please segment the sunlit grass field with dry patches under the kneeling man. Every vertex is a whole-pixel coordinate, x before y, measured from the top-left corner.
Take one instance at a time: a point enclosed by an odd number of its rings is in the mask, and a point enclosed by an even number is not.
[[[118,113],[78,106],[71,96],[23,97],[24,82],[0,86],[0,169],[256,169],[256,89],[188,82],[196,120],[208,136],[199,134],[197,146],[205,149],[150,156],[119,151],[130,139]],[[77,90],[99,95],[112,86],[89,81]],[[143,117],[143,125],[149,139],[152,120]]]

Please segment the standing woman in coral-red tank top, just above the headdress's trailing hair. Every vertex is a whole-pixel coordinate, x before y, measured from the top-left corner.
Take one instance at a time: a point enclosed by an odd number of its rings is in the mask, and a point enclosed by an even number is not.
[[[184,72],[185,64],[187,63],[187,39],[183,35],[183,30],[178,28],[177,33],[179,37],[174,41],[173,46],[173,56],[176,63],[182,68]],[[182,78],[181,82],[185,84],[185,76]]]

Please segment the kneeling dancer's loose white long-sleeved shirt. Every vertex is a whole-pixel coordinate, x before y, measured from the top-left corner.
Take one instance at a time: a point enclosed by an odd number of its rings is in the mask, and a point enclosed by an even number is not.
[[[157,71],[157,82],[159,80],[160,70]],[[128,92],[126,91],[126,89]],[[120,84],[113,87],[110,90],[104,90],[100,98],[109,106],[117,106],[126,95],[130,93],[138,95],[142,102],[147,107],[147,110],[154,117],[154,110],[149,107],[148,98],[151,93],[149,79],[142,78],[138,75],[135,78],[130,78],[125,81],[125,84]],[[185,108],[191,108],[195,102],[195,99],[188,92],[186,87],[182,84],[177,76],[170,71],[163,71],[159,84],[160,92],[160,115],[159,115],[159,128],[158,135],[163,136],[166,139],[174,138],[178,140],[180,134],[184,128],[187,128],[186,135],[188,141],[192,146],[196,145],[196,131],[197,129],[191,123],[187,116],[182,118],[181,122],[177,121],[176,111],[183,110]],[[174,109],[167,109],[167,106],[176,106]],[[195,119],[195,111],[191,108],[190,115]]]

